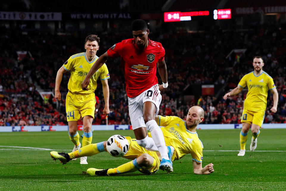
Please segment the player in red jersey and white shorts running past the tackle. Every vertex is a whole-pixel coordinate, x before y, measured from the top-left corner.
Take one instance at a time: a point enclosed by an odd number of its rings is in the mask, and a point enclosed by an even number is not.
[[[173,171],[169,159],[172,151],[166,147],[163,133],[155,121],[162,99],[160,91],[168,86],[165,50],[161,43],[148,38],[150,31],[145,21],[135,20],[131,28],[133,38],[116,43],[102,54],[86,75],[81,84],[82,89],[87,90],[91,76],[109,58],[121,57],[129,115],[136,141],[147,150],[159,151],[162,158],[160,169],[169,173]],[[158,85],[156,67],[163,85]],[[147,129],[152,138],[147,136]]]

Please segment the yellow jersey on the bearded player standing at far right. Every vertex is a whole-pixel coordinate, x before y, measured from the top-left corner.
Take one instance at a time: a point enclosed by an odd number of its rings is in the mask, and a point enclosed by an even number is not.
[[[275,87],[273,79],[265,71],[255,76],[254,71],[243,76],[238,85],[248,87],[248,93],[244,100],[244,107],[250,111],[265,111],[268,90]]]

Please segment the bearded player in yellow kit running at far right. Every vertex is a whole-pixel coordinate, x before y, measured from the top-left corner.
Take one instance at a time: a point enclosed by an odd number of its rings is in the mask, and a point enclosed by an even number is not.
[[[228,96],[240,93],[245,86],[248,87],[241,118],[242,129],[240,131],[240,151],[237,154],[238,156],[245,155],[247,132],[250,126],[252,132],[250,150],[254,151],[256,149],[257,137],[260,134],[259,129],[264,120],[268,90],[271,90],[271,93],[273,93],[273,107],[270,110],[274,113],[277,111],[278,92],[271,76],[262,70],[264,66],[262,57],[254,57],[252,65],[254,71],[243,76],[238,86],[223,96],[224,99],[227,99]]]

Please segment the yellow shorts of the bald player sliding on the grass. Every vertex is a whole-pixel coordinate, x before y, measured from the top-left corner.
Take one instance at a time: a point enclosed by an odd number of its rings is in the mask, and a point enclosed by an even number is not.
[[[128,149],[128,152],[122,157],[126,159],[130,159],[130,160],[134,160],[134,159],[137,159],[142,154],[147,153],[153,157],[154,159],[153,164],[148,167],[142,167],[141,169],[139,169],[139,172],[144,173],[144,174],[156,173],[160,165],[160,159],[158,155],[156,154],[156,152],[148,151],[145,148],[139,146],[136,139],[131,139],[131,137],[125,137],[125,138],[129,142],[129,149]]]

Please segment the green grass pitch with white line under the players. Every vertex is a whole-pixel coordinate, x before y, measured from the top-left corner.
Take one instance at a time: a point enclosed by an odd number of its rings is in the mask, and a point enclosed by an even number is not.
[[[51,150],[40,148],[70,152],[67,132],[0,133],[0,190],[286,190],[286,129],[261,129],[257,151],[252,152],[249,131],[245,156],[237,156],[240,129],[197,132],[204,145],[203,166],[214,164],[210,175],[195,175],[192,157],[186,155],[173,163],[170,174],[158,170],[153,175],[137,171],[90,177],[82,171],[117,167],[128,160],[104,152],[88,157],[88,165],[80,165],[80,159],[62,165],[52,160]],[[131,130],[93,131],[92,143],[113,134],[134,137]]]

